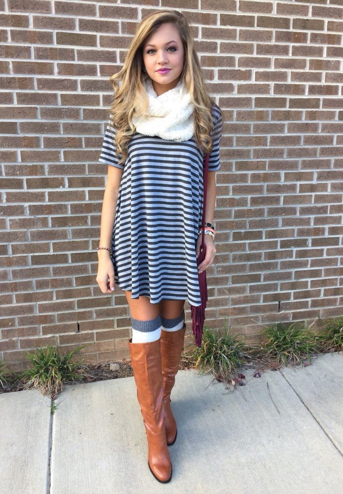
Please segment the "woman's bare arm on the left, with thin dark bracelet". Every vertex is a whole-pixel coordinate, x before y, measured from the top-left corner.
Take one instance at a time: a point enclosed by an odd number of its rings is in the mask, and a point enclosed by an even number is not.
[[[123,169],[108,165],[107,182],[101,211],[99,247],[111,248],[114,218],[122,176]],[[102,293],[112,293],[114,291],[114,267],[110,252],[105,249],[98,250],[98,274],[96,282]]]

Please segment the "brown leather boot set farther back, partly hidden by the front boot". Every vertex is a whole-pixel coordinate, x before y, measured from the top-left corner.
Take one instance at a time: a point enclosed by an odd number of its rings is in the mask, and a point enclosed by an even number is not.
[[[186,325],[177,331],[164,331],[162,329],[161,332],[163,401],[165,403],[165,424],[168,446],[174,444],[177,435],[176,422],[171,409],[171,392],[181,360],[185,332]]]

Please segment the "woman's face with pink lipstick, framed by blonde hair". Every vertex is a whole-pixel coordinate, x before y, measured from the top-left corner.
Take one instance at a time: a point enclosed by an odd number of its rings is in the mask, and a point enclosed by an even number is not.
[[[173,24],[162,24],[143,44],[143,63],[158,96],[180,80],[184,49]]]

